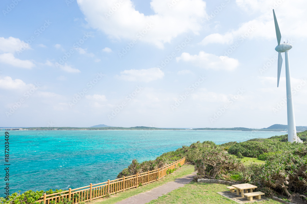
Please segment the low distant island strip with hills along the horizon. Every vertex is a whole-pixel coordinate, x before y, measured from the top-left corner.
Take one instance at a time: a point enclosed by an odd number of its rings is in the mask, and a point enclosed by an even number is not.
[[[73,127],[34,127],[34,128],[9,128],[3,127],[1,130],[234,130],[234,131],[287,131],[288,126],[282,124],[274,124],[268,128],[252,129],[252,128],[154,128],[145,126],[136,127],[113,127],[105,124],[94,125],[88,128],[73,128]],[[297,132],[307,130],[307,126],[296,126]]]

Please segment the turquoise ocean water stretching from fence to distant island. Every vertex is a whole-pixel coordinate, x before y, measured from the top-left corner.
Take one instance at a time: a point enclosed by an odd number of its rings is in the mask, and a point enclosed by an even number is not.
[[[1,131],[4,140],[4,132]],[[210,130],[8,131],[10,194],[67,189],[115,179],[138,161],[155,159],[196,141],[216,144],[268,138],[286,132]],[[4,150],[4,147],[3,147]],[[3,154],[4,157],[4,154]],[[4,167],[4,158],[2,166]],[[4,180],[4,168],[0,170]],[[4,181],[2,182],[4,184]],[[0,197],[4,191],[0,191]]]

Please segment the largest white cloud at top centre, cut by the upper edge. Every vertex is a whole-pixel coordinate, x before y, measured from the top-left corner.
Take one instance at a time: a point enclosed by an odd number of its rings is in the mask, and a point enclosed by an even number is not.
[[[169,7],[172,0],[151,0],[150,6],[155,14],[148,16],[135,10],[131,0],[123,1],[112,15],[108,13],[118,0],[77,2],[91,27],[103,31],[110,38],[139,39],[159,48],[182,33],[192,31],[198,34],[202,21],[207,17],[206,3],[202,0],[176,1],[172,7]],[[138,37],[137,34],[142,31],[146,34]]]

